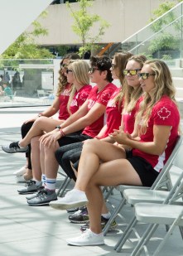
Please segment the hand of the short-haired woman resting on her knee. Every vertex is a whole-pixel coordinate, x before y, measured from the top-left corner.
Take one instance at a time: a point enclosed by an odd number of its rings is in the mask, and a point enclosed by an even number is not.
[[[57,142],[58,139],[62,137],[60,131],[58,129],[55,129],[51,131],[50,133],[46,133],[41,136],[40,142],[46,146],[46,147],[51,147],[53,144],[55,146],[55,143]]]

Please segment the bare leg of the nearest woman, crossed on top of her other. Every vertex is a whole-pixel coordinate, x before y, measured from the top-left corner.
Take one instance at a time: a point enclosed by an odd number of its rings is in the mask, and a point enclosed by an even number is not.
[[[126,153],[121,147],[108,142],[87,140],[84,142],[84,147],[79,160],[79,170],[75,188],[80,191],[85,191],[89,180],[94,176],[94,173],[98,171],[101,161],[109,162],[125,157]],[[113,170],[113,168],[111,170]]]

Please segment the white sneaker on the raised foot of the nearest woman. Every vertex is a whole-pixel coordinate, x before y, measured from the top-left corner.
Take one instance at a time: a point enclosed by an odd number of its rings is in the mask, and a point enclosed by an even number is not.
[[[51,201],[50,206],[59,210],[68,210],[88,203],[88,199],[83,191],[72,190],[67,192],[65,197],[56,201]]]

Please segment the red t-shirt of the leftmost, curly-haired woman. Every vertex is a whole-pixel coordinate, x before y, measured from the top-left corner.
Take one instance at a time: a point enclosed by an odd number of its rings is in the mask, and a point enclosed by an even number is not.
[[[66,120],[69,118],[70,114],[67,111],[67,103],[70,99],[70,84],[67,84],[65,86],[65,89],[60,93],[59,95],[59,101],[60,101],[60,109],[59,109],[59,119]]]

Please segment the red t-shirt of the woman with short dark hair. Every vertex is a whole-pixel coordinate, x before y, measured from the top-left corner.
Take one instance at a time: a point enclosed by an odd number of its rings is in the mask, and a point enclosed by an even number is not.
[[[107,106],[108,100],[110,99],[111,95],[113,94],[114,90],[116,89],[116,85],[113,85],[112,83],[109,83],[98,93],[98,86],[94,86],[94,88],[91,90],[88,98],[88,111],[92,109],[95,103],[103,104],[104,106]],[[86,128],[84,128],[83,133],[90,136],[95,137],[101,130],[101,128],[104,127],[104,124],[106,123],[106,117],[105,114],[103,114],[99,119],[97,119],[94,123],[90,124]]]

